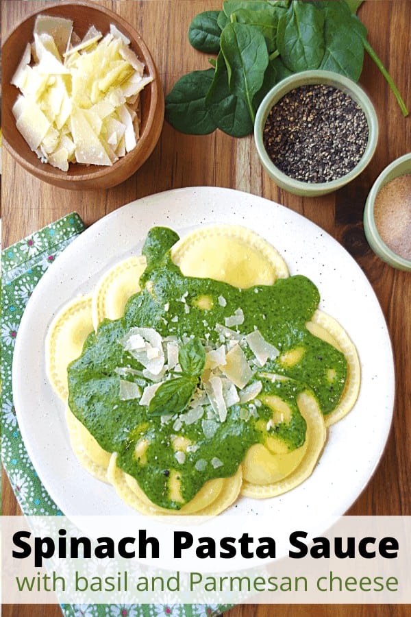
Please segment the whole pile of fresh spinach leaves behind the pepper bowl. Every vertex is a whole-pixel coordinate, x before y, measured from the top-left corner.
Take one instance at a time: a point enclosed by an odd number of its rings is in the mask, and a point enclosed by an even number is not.
[[[225,0],[190,25],[190,43],[218,53],[214,69],[182,77],[166,97],[166,119],[177,130],[207,134],[220,128],[240,137],[253,130],[269,88],[292,73],[325,69],[357,81],[364,49],[383,73],[404,115],[406,104],[357,18],[359,0]]]

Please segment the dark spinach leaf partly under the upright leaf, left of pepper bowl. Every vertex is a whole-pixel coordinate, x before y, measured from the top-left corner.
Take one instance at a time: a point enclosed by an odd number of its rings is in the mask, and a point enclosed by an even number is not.
[[[216,73],[206,96],[206,106],[217,127],[232,137],[243,137],[253,131],[253,121],[245,101],[230,93],[227,66],[220,52]]]

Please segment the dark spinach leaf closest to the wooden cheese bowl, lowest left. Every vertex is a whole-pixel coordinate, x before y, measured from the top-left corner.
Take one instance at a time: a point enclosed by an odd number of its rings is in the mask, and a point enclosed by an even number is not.
[[[183,75],[166,96],[166,120],[178,131],[205,135],[216,129],[205,103],[213,77],[214,69]]]

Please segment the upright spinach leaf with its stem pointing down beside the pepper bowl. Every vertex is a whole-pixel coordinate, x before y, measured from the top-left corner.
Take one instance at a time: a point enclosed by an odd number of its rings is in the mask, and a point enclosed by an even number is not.
[[[269,64],[264,36],[253,26],[227,23],[221,32],[221,52],[227,65],[229,91],[245,101],[254,121],[253,97],[262,86]]]

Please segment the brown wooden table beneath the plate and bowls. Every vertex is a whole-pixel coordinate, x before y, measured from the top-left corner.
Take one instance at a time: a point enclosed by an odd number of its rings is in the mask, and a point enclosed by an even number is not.
[[[102,1],[133,23],[151,49],[164,92],[183,73],[207,67],[206,58],[188,43],[188,25],[198,12],[221,8],[216,0]],[[3,1],[3,37],[26,14],[45,1]],[[369,40],[393,76],[411,108],[409,53],[410,1],[366,1],[359,16]],[[164,123],[160,141],[145,165],[127,182],[108,191],[76,192],[55,189],[29,176],[3,152],[3,247],[77,210],[90,225],[123,204],[158,191],[181,186],[225,186],[279,202],[308,217],[332,234],[360,264],[369,278],[388,323],[393,341],[397,394],[393,429],[382,461],[369,484],[349,510],[356,515],[411,514],[411,274],[385,265],[371,252],[362,228],[362,210],[371,184],[390,161],[410,152],[411,117],[404,118],[375,64],[366,56],[360,79],[379,117],[377,152],[367,169],[347,188],[319,198],[301,198],[279,189],[262,171],[251,136],[230,138],[179,134]],[[3,479],[3,513],[17,514],[12,489]],[[406,607],[245,605],[227,617],[297,614],[308,617],[405,617]],[[5,617],[60,617],[58,606],[4,607]]]

